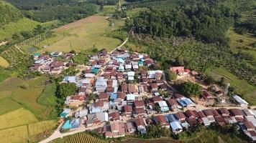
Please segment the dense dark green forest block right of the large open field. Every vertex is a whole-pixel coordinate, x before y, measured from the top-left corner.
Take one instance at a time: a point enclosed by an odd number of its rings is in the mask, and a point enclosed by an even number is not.
[[[228,6],[211,2],[181,4],[180,9],[151,8],[143,11],[127,24],[134,24],[135,32],[170,38],[195,36],[207,43],[228,44],[227,29],[234,24],[237,13]]]

